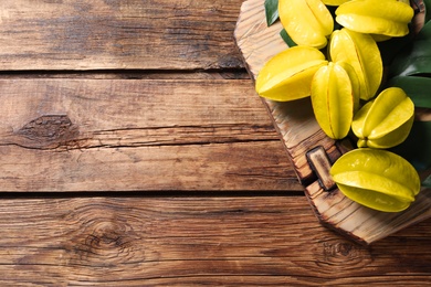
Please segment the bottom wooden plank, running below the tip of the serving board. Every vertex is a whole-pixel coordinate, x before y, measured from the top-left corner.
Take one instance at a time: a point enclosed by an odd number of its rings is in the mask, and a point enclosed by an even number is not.
[[[304,196],[0,201],[1,286],[427,286],[431,221],[372,246]]]

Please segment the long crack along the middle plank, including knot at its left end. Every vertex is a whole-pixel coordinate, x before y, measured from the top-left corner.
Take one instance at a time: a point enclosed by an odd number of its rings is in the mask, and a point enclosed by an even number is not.
[[[3,135],[0,146],[66,151],[274,140],[278,141],[280,138],[273,132],[273,127],[267,125],[174,125],[80,131],[78,125],[73,124],[66,115],[45,115],[31,120],[12,135]]]

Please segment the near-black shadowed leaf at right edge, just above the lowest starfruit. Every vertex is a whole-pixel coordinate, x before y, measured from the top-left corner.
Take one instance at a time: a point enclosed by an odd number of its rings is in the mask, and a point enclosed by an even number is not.
[[[418,171],[431,168],[431,121],[414,121],[407,139],[390,149],[403,157]]]

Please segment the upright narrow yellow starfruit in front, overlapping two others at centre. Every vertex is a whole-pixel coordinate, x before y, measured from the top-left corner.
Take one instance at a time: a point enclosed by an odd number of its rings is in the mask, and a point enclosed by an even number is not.
[[[333,139],[341,139],[350,130],[354,95],[349,75],[337,63],[317,70],[312,82],[312,105],[322,130]]]

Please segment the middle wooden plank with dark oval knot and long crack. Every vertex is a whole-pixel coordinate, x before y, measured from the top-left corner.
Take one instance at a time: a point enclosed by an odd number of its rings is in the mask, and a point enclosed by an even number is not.
[[[250,79],[1,79],[1,191],[302,190]]]

